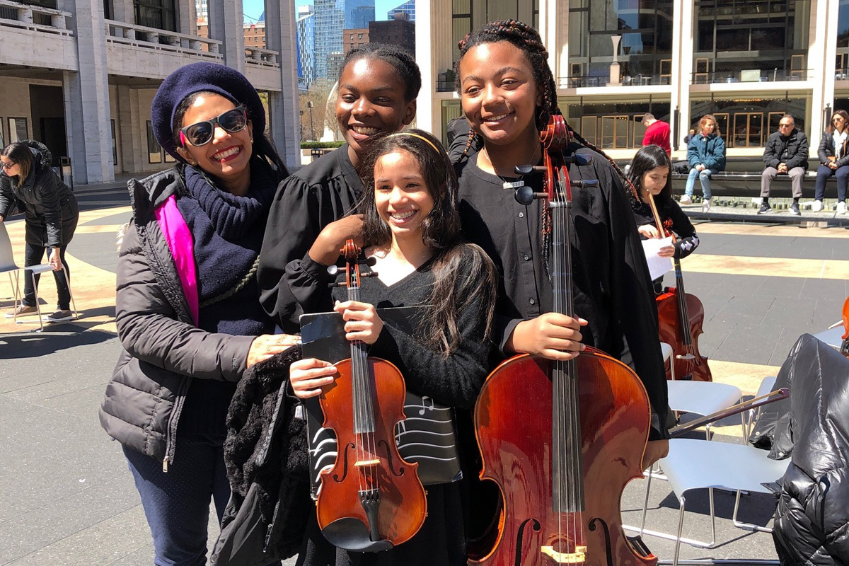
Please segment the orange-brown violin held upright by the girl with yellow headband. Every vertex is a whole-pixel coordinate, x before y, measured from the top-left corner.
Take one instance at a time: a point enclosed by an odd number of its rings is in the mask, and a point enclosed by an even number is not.
[[[359,249],[348,240],[348,300],[359,300]],[[351,357],[335,364],[339,377],[319,397],[323,426],[333,429],[337,456],[321,473],[316,512],[318,526],[334,546],[352,551],[388,550],[413,537],[427,512],[418,463],[403,460],[395,427],[404,419],[407,387],[391,362],[368,357],[360,340]]]

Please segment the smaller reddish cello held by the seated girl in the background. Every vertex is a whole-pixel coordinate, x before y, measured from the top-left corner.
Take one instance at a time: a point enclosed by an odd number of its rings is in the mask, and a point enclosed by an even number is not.
[[[657,212],[655,197],[649,193],[649,206],[655,216],[658,233],[666,236],[670,233],[661,222]],[[661,342],[672,346],[672,363],[675,364],[675,378],[681,380],[713,381],[707,357],[699,352],[699,335],[703,333],[705,306],[699,297],[684,291],[684,277],[681,260],[672,258],[675,265],[675,287],[657,296],[657,319]],[[672,377],[672,367],[667,377]]]

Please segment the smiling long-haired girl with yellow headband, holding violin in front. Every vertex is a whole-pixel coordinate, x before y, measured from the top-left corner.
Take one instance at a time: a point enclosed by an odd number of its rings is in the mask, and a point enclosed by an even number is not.
[[[396,364],[413,392],[470,409],[491,350],[495,268],[478,246],[460,242],[453,166],[436,137],[410,130],[375,142],[363,171],[366,190],[357,211],[363,215],[364,254],[373,259],[377,276],[363,279],[361,301],[334,291],[346,339],[361,340],[369,356]],[[382,321],[375,305],[426,307],[412,336]],[[309,358],[290,367],[292,389],[301,399],[320,395],[337,377],[329,361]],[[335,548],[313,517],[298,564],[465,564],[463,501],[460,482],[428,486],[427,518],[418,534],[379,553]]]

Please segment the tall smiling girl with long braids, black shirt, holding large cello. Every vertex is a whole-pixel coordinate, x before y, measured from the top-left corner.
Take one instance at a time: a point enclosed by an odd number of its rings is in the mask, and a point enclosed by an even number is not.
[[[543,200],[520,205],[510,182],[543,190],[541,173],[517,177],[516,165],[541,165],[540,131],[561,114],[548,53],[530,25],[496,21],[459,42],[457,89],[483,148],[456,165],[460,215],[469,241],[479,244],[502,275],[493,339],[504,357],[530,353],[552,360],[579,356],[585,345],[633,367],[649,393],[649,440],[665,439],[666,375],[658,341],[649,270],[616,165],[576,132],[566,153],[585,154],[588,165],[569,165],[572,179],[596,179],[573,188],[572,271],[575,311],[553,311],[543,235]],[[649,451],[666,450],[649,443]],[[647,454],[650,460],[657,454]],[[646,460],[644,460],[646,462]]]

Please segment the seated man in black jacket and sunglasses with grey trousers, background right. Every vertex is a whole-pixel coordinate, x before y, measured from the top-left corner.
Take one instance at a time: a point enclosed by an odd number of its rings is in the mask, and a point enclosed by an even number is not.
[[[767,147],[763,150],[763,162],[767,168],[761,174],[761,210],[758,214],[772,212],[769,205],[769,188],[773,179],[778,175],[790,176],[793,183],[793,204],[790,214],[799,216],[799,199],[801,198],[801,181],[807,169],[807,136],[805,132],[796,129],[796,120],[785,114],[779,121],[779,131],[773,132],[767,139]]]

